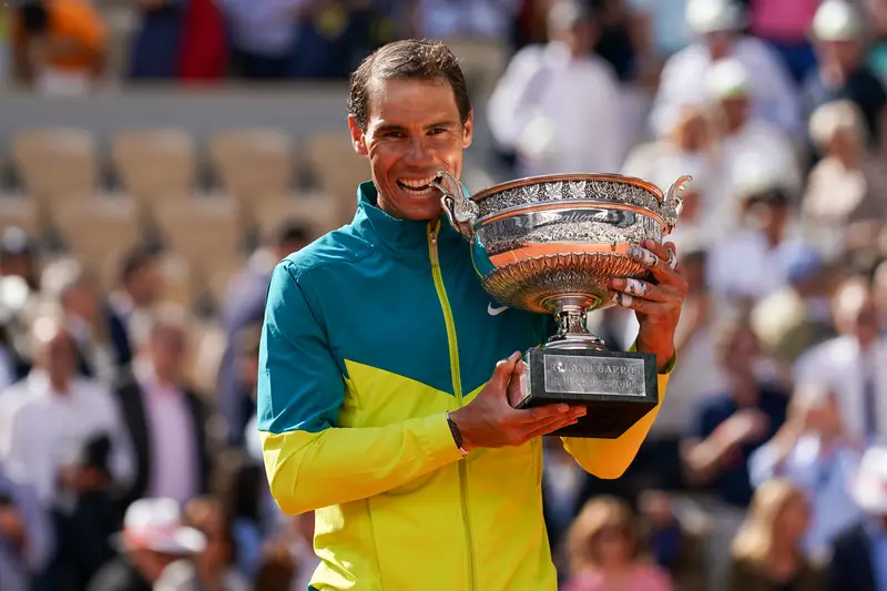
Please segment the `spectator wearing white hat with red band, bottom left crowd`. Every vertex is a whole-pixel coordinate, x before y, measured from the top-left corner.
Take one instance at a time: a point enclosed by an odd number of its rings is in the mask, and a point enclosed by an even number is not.
[[[172,499],[140,499],[126,509],[123,530],[113,537],[116,557],[90,582],[88,591],[154,591],[170,564],[206,548],[206,537],[182,522]]]

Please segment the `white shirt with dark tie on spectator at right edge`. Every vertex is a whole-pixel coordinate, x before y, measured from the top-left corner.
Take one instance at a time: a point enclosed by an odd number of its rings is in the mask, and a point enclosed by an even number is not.
[[[864,351],[856,338],[839,336],[816,345],[795,363],[798,383],[825,384],[834,393],[847,435],[857,440],[866,437],[867,376],[874,379],[876,438],[884,440],[887,439],[887,342],[877,342]]]

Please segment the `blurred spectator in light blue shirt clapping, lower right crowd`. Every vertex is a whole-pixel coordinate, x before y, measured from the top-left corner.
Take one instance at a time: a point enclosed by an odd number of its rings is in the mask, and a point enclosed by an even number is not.
[[[861,451],[844,430],[835,396],[820,385],[803,384],[792,397],[785,425],[748,460],[756,489],[785,478],[804,491],[810,527],[803,546],[812,559],[826,558],[835,536],[860,517],[848,483]]]

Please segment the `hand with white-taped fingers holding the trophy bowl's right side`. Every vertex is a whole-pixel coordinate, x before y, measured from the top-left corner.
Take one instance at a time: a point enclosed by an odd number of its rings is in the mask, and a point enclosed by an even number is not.
[[[674,330],[687,293],[686,279],[677,265],[677,251],[670,242],[646,240],[631,246],[625,254],[649,268],[654,281],[611,279],[613,302],[635,312],[641,325],[638,350],[654,354],[659,370],[663,371],[674,357]]]

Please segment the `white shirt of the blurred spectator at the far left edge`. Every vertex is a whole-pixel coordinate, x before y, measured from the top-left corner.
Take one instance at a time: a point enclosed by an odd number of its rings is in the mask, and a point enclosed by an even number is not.
[[[132,446],[116,403],[99,383],[74,378],[57,393],[49,377],[33,370],[0,393],[0,460],[17,466],[45,505],[63,502],[59,470],[70,466],[81,446],[106,435],[112,454],[109,469],[120,482],[133,475]]]

